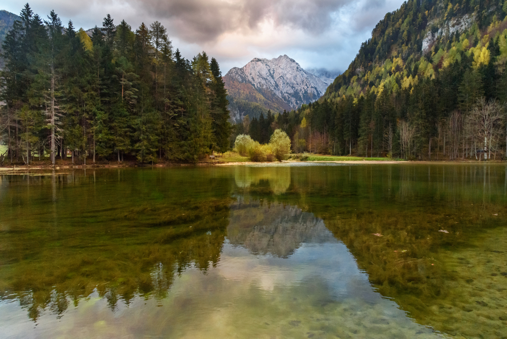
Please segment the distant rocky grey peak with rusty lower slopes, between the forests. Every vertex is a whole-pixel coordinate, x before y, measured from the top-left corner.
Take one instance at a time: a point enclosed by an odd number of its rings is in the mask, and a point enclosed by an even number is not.
[[[328,85],[305,71],[286,55],[267,60],[255,58],[224,76],[233,120],[258,117],[267,110],[282,112],[308,104],[324,94]]]

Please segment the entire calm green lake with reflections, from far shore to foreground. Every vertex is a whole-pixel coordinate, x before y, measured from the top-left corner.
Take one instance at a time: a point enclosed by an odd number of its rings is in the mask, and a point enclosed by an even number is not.
[[[507,337],[504,164],[0,176],[0,337]]]

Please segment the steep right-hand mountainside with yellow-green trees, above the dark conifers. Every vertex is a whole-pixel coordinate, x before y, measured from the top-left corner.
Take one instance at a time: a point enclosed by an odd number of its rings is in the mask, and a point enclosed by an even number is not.
[[[407,88],[422,79],[434,79],[446,67],[461,62],[462,56],[472,57],[475,69],[487,65],[484,53],[489,51],[488,58],[492,57],[491,52],[497,53],[492,48],[500,52],[504,44],[506,13],[505,0],[409,0],[376,25],[372,38],[361,45],[322,99],[358,96],[371,89],[377,92],[381,85],[389,90],[396,90],[395,84]],[[502,71],[504,61],[503,56],[494,61],[497,71]]]

